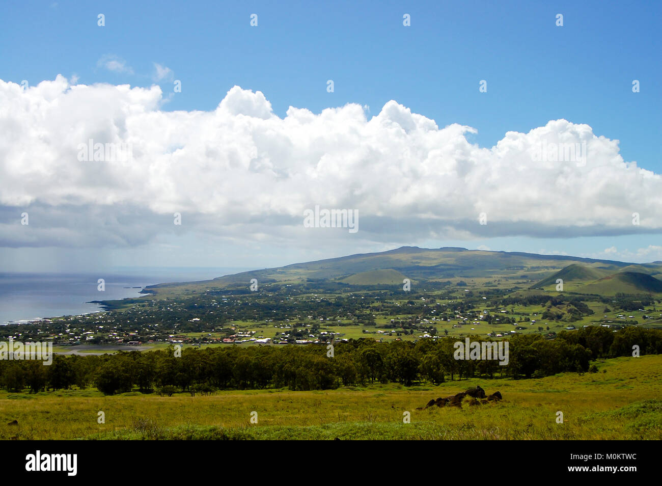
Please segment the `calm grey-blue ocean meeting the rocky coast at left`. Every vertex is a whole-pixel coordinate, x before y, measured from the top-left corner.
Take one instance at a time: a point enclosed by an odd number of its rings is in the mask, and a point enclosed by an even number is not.
[[[209,280],[246,270],[224,267],[120,269],[94,274],[0,272],[0,324],[99,312],[99,305],[88,302],[140,297],[146,285]],[[103,292],[97,290],[99,278],[105,280]]]

